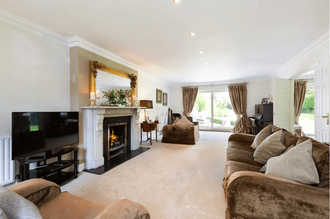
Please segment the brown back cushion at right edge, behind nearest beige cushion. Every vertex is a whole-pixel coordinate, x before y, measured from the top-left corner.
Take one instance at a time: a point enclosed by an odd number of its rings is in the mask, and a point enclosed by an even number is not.
[[[320,183],[317,186],[329,189],[329,146],[322,144],[313,138],[303,136],[299,137],[297,144],[300,144],[308,139],[312,140],[312,157],[320,178]]]

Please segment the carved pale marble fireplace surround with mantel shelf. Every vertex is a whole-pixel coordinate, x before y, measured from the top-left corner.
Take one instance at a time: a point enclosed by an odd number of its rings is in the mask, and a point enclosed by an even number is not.
[[[104,117],[131,116],[131,150],[140,148],[138,125],[141,108],[118,106],[84,106],[83,141],[85,148],[85,168],[94,169],[104,165],[103,119]]]

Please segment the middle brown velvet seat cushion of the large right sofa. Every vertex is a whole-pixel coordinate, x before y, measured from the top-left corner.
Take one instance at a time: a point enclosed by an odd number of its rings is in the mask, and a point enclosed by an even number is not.
[[[253,152],[244,151],[237,148],[227,149],[227,161],[237,161],[244,164],[250,164],[252,166],[258,166],[260,167],[260,169],[263,166],[263,164],[255,162],[253,160]]]

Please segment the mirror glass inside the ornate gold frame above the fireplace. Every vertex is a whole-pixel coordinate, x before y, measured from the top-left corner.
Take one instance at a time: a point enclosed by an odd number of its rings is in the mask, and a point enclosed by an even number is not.
[[[103,98],[104,93],[102,91],[108,92],[115,89],[131,91],[131,80],[97,69],[96,90],[100,91],[100,103],[106,102],[106,99]]]

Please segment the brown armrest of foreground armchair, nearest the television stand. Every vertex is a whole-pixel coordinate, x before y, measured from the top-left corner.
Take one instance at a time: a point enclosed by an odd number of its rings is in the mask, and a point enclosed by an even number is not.
[[[29,179],[10,186],[8,189],[37,206],[61,193],[61,188],[56,183],[45,179]]]

